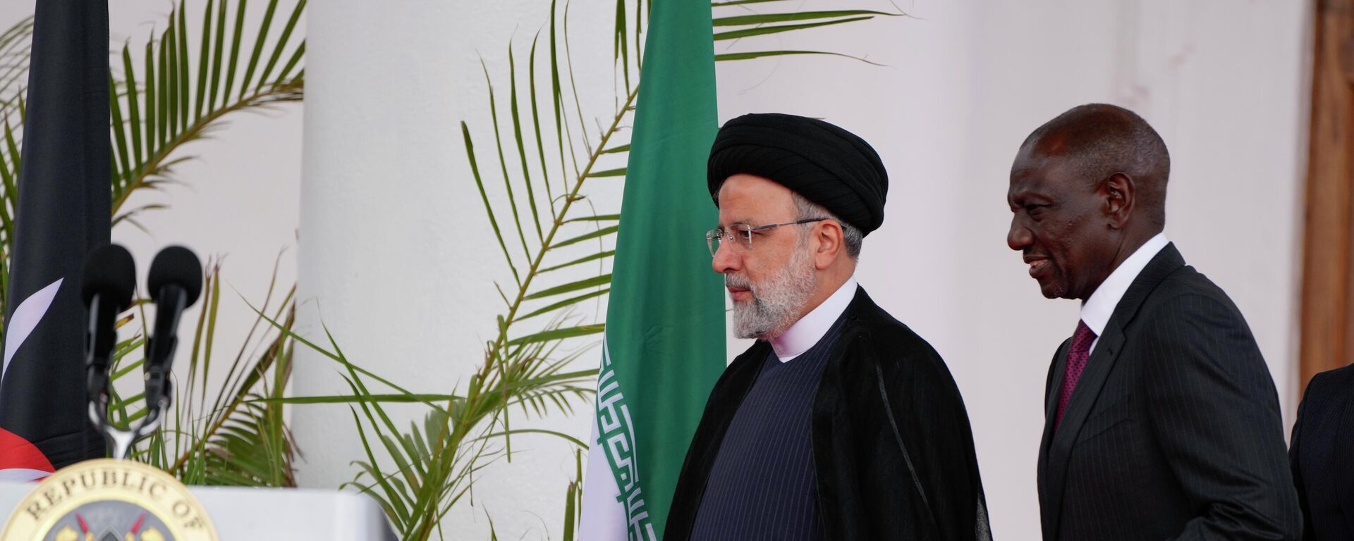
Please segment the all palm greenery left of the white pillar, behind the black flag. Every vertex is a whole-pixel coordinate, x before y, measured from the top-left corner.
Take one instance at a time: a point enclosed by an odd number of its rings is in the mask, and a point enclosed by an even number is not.
[[[279,0],[271,0],[257,28],[246,28],[246,3],[207,0],[202,26],[188,24],[183,0],[171,11],[165,30],[134,51],[121,49],[110,68],[110,141],[112,166],[110,189],[114,226],[138,226],[141,212],[164,208],[142,204],[129,208],[130,196],[141,189],[161,189],[176,183],[176,165],[192,160],[185,145],[210,135],[240,112],[260,111],[303,95],[305,41],[295,35],[306,0],[290,5],[283,22]],[[233,23],[232,23],[233,19]],[[0,311],[8,279],[14,210],[19,181],[19,146],[23,138],[24,84],[32,34],[32,18],[26,18],[0,34]],[[198,43],[196,66],[190,49]],[[139,61],[139,62],[138,62]],[[138,226],[139,227],[139,226]],[[188,377],[179,380],[175,411],[165,425],[138,445],[134,458],[177,475],[195,484],[295,486],[295,446],[283,423],[282,396],[290,377],[291,341],[265,321],[290,329],[292,293],[272,307],[275,283],[269,285],[263,310],[271,318],[257,318],[249,337],[227,365],[225,383],[209,390],[217,314],[221,303],[219,264],[209,265],[203,310],[194,330]],[[292,288],[294,289],[294,288]],[[145,362],[145,300],[119,319],[133,327],[133,337],[118,344],[114,381],[134,375]],[[139,326],[137,325],[139,323]],[[219,365],[219,362],[218,362]],[[126,426],[144,415],[142,394],[110,400],[110,421]]]

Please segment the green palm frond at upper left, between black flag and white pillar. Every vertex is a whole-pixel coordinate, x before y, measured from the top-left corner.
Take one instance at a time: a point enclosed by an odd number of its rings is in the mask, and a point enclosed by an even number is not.
[[[115,218],[123,216],[119,211],[133,192],[173,179],[172,166],[183,160],[177,153],[184,145],[209,135],[237,112],[303,97],[305,72],[297,68],[305,41],[295,38],[294,30],[306,0],[290,7],[287,23],[275,32],[279,3],[268,1],[255,30],[245,26],[246,1],[238,1],[230,14],[230,0],[209,0],[202,24],[192,28],[180,0],[165,30],[145,43],[142,54],[131,43],[123,45],[116,62],[121,73],[110,76]],[[194,31],[200,34],[196,66],[190,62]],[[275,73],[284,57],[290,60]]]

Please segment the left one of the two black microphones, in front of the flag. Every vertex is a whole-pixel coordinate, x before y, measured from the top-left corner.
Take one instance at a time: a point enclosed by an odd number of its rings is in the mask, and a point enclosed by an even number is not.
[[[91,402],[100,402],[108,388],[108,365],[118,344],[118,314],[131,306],[137,264],[127,249],[103,245],[85,256],[80,298],[89,310],[85,333],[85,385]]]

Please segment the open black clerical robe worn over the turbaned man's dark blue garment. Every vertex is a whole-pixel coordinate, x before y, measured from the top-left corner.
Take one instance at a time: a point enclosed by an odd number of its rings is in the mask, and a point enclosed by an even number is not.
[[[825,538],[990,540],[968,413],[940,354],[864,289],[839,325],[808,413]],[[758,341],[715,384],[663,540],[691,538],[720,445],[770,353]]]

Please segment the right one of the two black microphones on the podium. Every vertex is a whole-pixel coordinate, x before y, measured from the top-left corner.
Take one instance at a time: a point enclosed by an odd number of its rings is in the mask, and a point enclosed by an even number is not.
[[[154,334],[146,356],[146,406],[160,408],[169,404],[168,377],[179,344],[179,316],[202,293],[202,264],[187,248],[165,248],[150,262],[146,283],[156,302]]]

